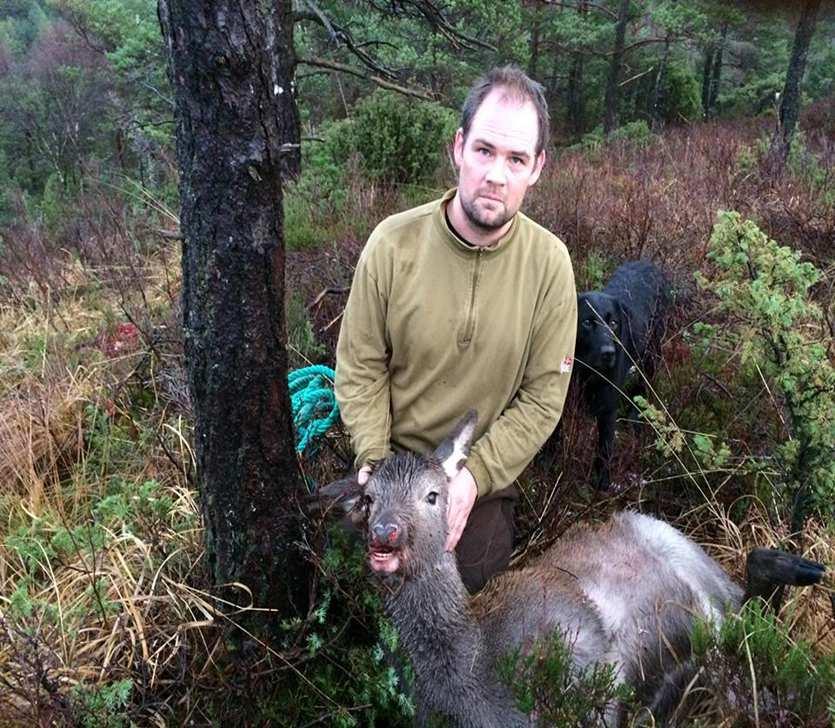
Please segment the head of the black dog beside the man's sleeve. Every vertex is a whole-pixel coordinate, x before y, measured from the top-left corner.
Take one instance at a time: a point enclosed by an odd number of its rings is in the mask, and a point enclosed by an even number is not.
[[[577,359],[599,372],[611,372],[621,358],[628,312],[618,299],[589,291],[577,296]]]

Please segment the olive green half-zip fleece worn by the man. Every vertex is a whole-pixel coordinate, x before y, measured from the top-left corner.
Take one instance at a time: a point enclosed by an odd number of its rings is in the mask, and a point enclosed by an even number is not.
[[[483,496],[510,485],[556,426],[577,294],[565,245],[517,213],[490,248],[444,214],[455,190],[384,220],[357,268],[336,349],[336,398],[356,464],[428,454],[469,409],[467,467]]]

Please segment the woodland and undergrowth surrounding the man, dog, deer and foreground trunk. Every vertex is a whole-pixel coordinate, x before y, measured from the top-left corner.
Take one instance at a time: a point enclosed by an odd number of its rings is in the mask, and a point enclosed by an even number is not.
[[[812,7],[789,129],[781,103]],[[740,579],[754,546],[831,566],[832,5],[285,10],[289,366],[333,364],[367,235],[453,183],[466,89],[516,63],[552,112],[526,212],[566,242],[578,288],[639,257],[675,288],[642,422],[619,434],[623,489],[588,487],[593,423],[572,394],[559,445],[521,478],[517,560],[578,519],[634,507]],[[385,657],[396,635],[339,532],[303,518],[309,605],[265,613],[266,633],[248,621],[252,590],[219,587],[207,558],[156,2],[4,0],[0,99],[0,725],[409,724]],[[306,488],[349,464],[339,428],[298,457]],[[832,724],[831,577],[784,596],[776,617],[753,608],[698,636],[705,670],[682,724]],[[558,649],[517,669],[558,725],[591,724],[611,690],[599,675],[567,684]]]

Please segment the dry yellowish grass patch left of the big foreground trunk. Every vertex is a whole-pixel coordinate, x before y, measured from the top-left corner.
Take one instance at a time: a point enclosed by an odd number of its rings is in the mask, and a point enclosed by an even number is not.
[[[0,305],[0,724],[96,724],[73,690],[131,678],[134,718],[166,725],[165,696],[210,661],[218,614],[194,588],[190,433],[166,396],[177,349],[159,335],[178,258],[64,266],[60,289]],[[114,493],[125,513],[100,509]]]

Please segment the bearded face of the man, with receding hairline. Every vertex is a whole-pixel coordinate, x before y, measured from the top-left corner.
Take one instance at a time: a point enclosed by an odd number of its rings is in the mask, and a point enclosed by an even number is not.
[[[536,154],[539,131],[532,102],[520,104],[493,89],[473,117],[467,138],[459,129],[453,147],[458,196],[467,221],[497,230],[519,211],[528,187],[539,179],[545,153]]]

